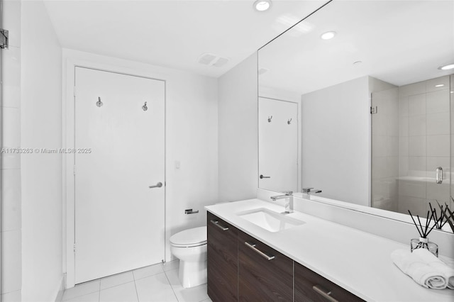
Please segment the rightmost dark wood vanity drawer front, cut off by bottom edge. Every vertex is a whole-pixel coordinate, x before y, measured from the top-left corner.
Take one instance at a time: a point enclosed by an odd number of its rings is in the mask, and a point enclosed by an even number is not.
[[[350,291],[312,272],[307,267],[294,262],[295,302],[326,302],[326,301],[363,301]],[[328,294],[329,293],[329,294]]]

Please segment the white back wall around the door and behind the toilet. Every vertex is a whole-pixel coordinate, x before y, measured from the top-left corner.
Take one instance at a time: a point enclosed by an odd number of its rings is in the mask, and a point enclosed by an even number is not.
[[[204,206],[218,200],[218,89],[217,81],[177,69],[147,65],[77,50],[63,50],[65,99],[72,95],[68,68],[74,64],[127,74],[138,74],[166,82],[166,260],[171,259],[169,237],[180,230],[206,224]],[[65,112],[65,108],[63,108]],[[65,121],[66,122],[66,121]],[[70,127],[64,123],[64,128]],[[66,133],[66,130],[64,130]],[[175,169],[175,161],[180,169]],[[71,206],[65,203],[64,228],[70,243]],[[199,210],[186,215],[184,210]],[[72,252],[72,251],[70,251]],[[66,257],[66,251],[64,252]],[[64,259],[70,264],[70,258]],[[68,279],[70,275],[68,274]],[[71,283],[70,283],[71,284]]]

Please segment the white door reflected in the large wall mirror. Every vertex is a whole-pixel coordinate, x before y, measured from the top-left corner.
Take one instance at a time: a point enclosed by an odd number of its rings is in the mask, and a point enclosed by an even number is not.
[[[298,104],[259,98],[259,188],[298,189]]]

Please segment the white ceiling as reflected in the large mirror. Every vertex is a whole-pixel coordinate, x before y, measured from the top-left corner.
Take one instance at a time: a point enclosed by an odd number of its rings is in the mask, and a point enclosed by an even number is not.
[[[334,30],[332,40],[320,35]],[[353,62],[362,61],[353,65]],[[454,1],[337,1],[259,51],[261,86],[305,94],[370,75],[401,86],[453,73]]]

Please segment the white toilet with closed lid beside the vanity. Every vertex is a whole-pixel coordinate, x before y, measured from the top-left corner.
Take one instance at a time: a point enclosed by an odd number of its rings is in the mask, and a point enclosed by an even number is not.
[[[184,288],[206,283],[206,226],[170,237],[170,251],[179,259],[179,281]]]

